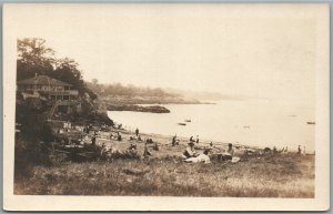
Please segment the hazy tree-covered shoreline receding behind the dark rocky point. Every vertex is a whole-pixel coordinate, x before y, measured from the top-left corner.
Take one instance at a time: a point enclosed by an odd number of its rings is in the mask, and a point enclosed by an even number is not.
[[[98,94],[101,102],[113,104],[200,104],[221,100],[261,99],[248,95],[223,94],[220,92],[143,88],[132,84],[122,85],[121,83],[99,84],[97,81],[87,82],[87,86],[93,93]]]

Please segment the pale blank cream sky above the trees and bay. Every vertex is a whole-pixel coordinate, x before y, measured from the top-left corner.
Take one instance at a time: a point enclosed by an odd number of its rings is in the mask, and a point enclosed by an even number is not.
[[[18,38],[43,38],[84,80],[269,99],[315,100],[311,9],[254,4],[30,7]]]

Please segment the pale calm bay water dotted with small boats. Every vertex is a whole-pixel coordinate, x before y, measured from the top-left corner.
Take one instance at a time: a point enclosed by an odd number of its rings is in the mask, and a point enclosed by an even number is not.
[[[164,104],[171,113],[109,111],[108,115],[134,132],[194,137],[201,141],[240,143],[251,146],[297,145],[314,151],[314,108],[270,100],[221,101],[215,104]],[[191,120],[185,122],[184,120]],[[179,125],[178,123],[186,123]]]

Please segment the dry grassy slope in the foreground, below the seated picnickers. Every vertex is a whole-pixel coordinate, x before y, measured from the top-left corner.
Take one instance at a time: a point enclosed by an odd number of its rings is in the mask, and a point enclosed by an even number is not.
[[[210,164],[167,155],[36,166],[30,177],[14,182],[14,194],[314,197],[314,155],[263,155]]]

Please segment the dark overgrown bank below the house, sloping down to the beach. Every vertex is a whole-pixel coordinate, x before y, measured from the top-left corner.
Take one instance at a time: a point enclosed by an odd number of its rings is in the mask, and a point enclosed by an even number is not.
[[[32,134],[36,126],[43,128],[50,121],[70,121],[79,124],[113,125],[107,111],[100,110],[89,99],[80,99],[72,105],[57,105],[56,102],[40,98],[17,96],[16,123],[20,124],[23,136],[40,139],[42,130]]]

